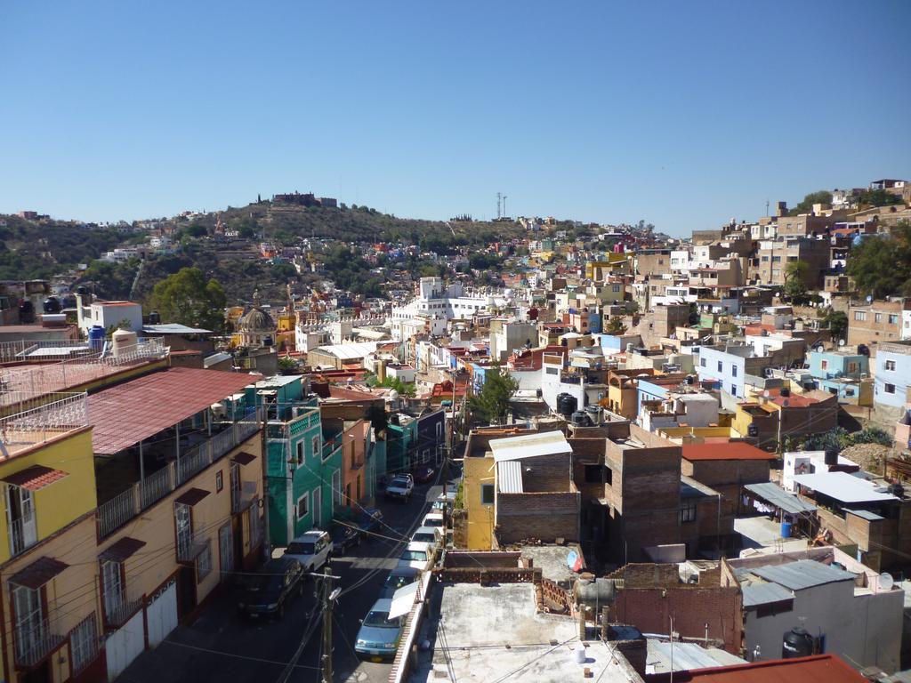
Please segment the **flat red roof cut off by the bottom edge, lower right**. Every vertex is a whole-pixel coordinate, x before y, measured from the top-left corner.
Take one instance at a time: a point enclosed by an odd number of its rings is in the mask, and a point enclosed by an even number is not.
[[[656,683],[670,680],[669,674],[651,677]],[[680,683],[865,683],[866,678],[834,655],[737,664],[732,667],[674,671]]]

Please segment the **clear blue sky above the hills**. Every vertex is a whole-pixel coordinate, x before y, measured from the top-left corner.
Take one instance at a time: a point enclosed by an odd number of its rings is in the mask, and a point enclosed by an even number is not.
[[[0,3],[0,212],[646,219],[911,177],[894,2]]]

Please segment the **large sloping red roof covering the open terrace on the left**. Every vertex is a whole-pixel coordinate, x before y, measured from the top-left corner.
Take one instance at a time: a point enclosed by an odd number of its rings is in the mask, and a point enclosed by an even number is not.
[[[171,368],[88,397],[92,447],[113,455],[240,392],[255,378],[241,372]]]

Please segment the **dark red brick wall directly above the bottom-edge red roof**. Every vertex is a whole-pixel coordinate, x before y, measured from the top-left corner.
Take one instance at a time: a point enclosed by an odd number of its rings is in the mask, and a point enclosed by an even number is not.
[[[681,637],[705,637],[708,623],[710,638],[721,641],[728,652],[740,653],[743,620],[738,588],[624,587],[610,607],[611,621],[631,624],[643,633],[669,633],[670,617]]]

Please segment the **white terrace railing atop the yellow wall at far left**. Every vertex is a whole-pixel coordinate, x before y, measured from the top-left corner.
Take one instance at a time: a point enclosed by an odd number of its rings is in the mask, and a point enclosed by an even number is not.
[[[0,393],[0,400],[5,394]],[[44,443],[88,425],[86,392],[54,393],[50,401],[36,405],[25,396],[16,396],[23,410],[0,418],[0,455]]]

